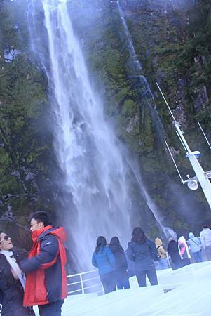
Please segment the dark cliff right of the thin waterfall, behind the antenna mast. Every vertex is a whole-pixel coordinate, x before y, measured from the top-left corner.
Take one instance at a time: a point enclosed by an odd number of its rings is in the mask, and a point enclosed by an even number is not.
[[[210,6],[207,1],[123,1],[125,17],[144,73],[154,91],[156,105],[170,145],[177,150],[172,124],[156,81],[167,96],[172,112],[182,124],[191,148],[207,149],[197,130],[197,120],[210,136]],[[204,35],[203,35],[204,34]],[[206,60],[206,62],[205,62]],[[205,119],[207,117],[207,119]],[[184,174],[189,167],[175,154]],[[178,157],[177,157],[178,156]],[[189,172],[188,172],[189,173]]]

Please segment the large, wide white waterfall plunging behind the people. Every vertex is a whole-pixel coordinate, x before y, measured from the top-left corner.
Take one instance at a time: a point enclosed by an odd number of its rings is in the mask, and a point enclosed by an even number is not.
[[[69,225],[76,257],[81,268],[88,268],[98,235],[117,235],[124,246],[129,240],[128,169],[104,119],[102,102],[90,86],[66,1],[42,4],[55,98],[55,151],[64,175],[62,185],[74,204]]]

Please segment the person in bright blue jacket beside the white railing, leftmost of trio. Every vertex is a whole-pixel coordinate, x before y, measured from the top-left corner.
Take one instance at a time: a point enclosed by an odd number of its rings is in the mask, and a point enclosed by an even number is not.
[[[104,294],[116,291],[116,282],[114,279],[116,261],[111,249],[107,247],[107,240],[104,236],[97,238],[97,246],[93,253],[92,263],[98,268]]]

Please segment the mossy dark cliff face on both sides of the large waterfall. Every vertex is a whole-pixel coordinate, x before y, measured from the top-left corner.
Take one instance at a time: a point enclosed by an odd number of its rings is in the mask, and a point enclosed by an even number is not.
[[[90,2],[90,3],[89,3]],[[132,43],[143,66],[168,143],[183,175],[192,175],[156,88],[161,85],[193,150],[208,148],[197,120],[211,138],[211,14],[208,0],[121,0]],[[29,244],[27,216],[46,209],[55,216],[55,161],[46,78],[29,46],[27,1],[0,1],[0,229]],[[122,143],[137,157],[144,182],[166,225],[200,228],[210,219],[203,193],[190,192],[179,178],[158,135],[151,113],[139,100],[128,73],[116,1],[69,2],[86,62],[97,82],[104,112]],[[56,173],[56,174],[55,174]],[[24,230],[22,228],[25,228]]]

